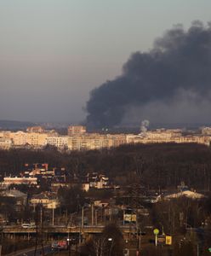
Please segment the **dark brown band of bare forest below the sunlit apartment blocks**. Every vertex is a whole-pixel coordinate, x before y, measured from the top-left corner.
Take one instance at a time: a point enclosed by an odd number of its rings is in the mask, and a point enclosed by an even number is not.
[[[100,172],[118,185],[135,182],[137,174],[147,189],[175,189],[184,182],[190,189],[209,191],[211,148],[199,144],[136,144],[92,151],[59,152],[11,149],[0,151],[0,175],[19,175],[26,163],[66,167],[68,177]]]

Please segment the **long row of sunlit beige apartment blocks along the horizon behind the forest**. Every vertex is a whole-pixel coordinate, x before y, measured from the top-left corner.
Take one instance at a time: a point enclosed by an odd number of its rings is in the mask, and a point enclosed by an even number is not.
[[[89,150],[118,147],[127,143],[201,143],[209,145],[211,128],[200,134],[183,135],[181,130],[157,129],[140,134],[88,133],[83,125],[71,125],[67,135],[44,131],[42,127],[29,127],[26,131],[0,131],[0,148],[43,148],[51,146],[66,150]]]

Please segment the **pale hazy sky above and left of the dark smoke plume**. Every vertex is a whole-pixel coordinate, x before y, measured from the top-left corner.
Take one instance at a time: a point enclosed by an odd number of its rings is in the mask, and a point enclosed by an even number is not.
[[[0,119],[79,122],[88,93],[210,0],[1,0]]]

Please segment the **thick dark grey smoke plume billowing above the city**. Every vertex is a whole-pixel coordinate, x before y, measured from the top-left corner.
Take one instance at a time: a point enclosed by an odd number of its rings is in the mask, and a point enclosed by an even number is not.
[[[119,125],[128,108],[153,102],[171,105],[180,95],[208,101],[211,90],[211,23],[194,21],[185,31],[174,26],[149,52],[136,52],[123,74],[91,91],[87,122],[95,127]]]

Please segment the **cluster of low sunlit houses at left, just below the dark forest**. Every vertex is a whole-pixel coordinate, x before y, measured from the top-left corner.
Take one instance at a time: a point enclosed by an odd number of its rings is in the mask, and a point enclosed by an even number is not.
[[[25,164],[18,176],[9,175],[3,177],[0,189],[9,188],[11,185],[40,187],[41,184],[48,186],[48,189],[57,191],[60,187],[71,188],[81,186],[81,189],[110,189],[111,183],[105,174],[88,172],[82,177],[66,172],[64,167],[49,167],[47,163]]]

